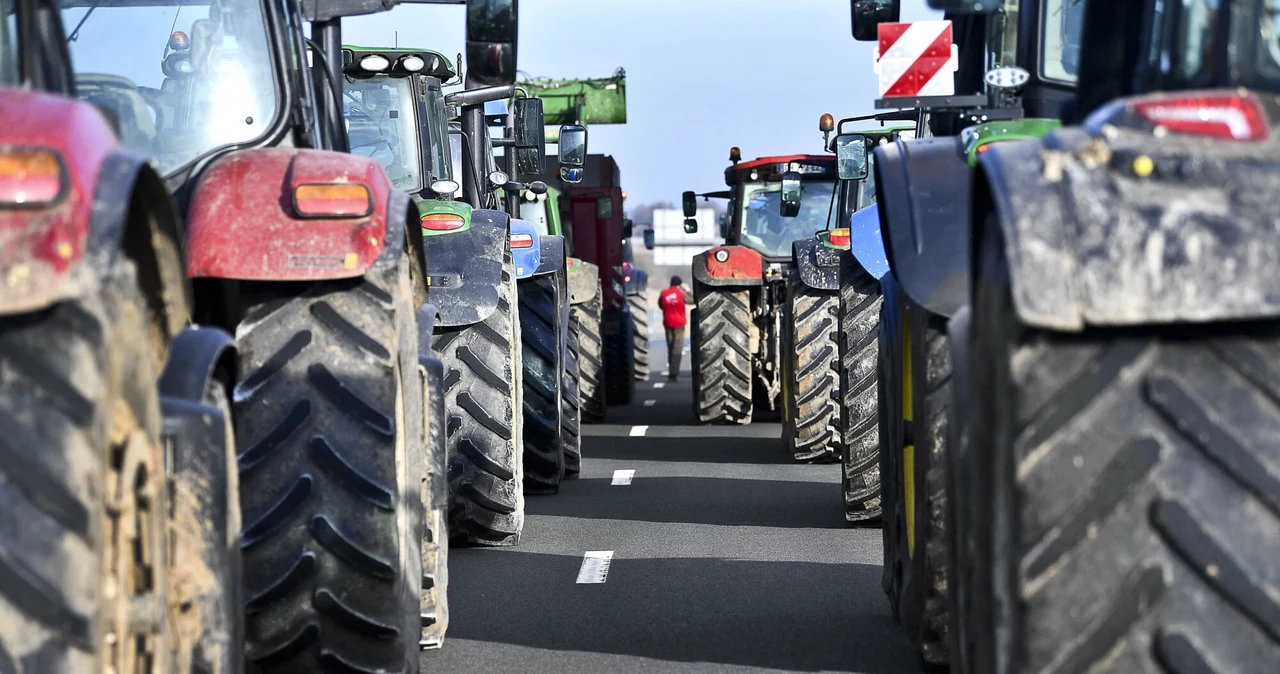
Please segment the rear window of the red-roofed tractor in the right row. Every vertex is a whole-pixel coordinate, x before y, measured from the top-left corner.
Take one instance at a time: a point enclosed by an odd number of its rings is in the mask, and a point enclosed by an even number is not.
[[[791,242],[827,229],[836,183],[800,183],[800,215],[782,217],[782,183],[748,183],[742,193],[742,243],[765,257],[791,255]]]

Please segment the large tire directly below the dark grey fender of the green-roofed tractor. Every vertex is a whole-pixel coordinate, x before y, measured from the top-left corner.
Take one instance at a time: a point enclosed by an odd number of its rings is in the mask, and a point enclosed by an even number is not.
[[[503,258],[498,308],[484,321],[438,327],[449,446],[449,536],[516,545],[525,526],[521,331],[515,267]]]

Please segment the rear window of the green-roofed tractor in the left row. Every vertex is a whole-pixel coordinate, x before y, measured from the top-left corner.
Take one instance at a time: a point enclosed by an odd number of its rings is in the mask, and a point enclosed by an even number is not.
[[[343,84],[342,115],[351,153],[378,161],[393,185],[411,192],[422,188],[413,113],[413,87],[407,77],[379,75]]]

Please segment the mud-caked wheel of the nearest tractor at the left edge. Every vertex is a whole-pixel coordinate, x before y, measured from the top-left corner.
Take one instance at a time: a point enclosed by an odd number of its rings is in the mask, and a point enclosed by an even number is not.
[[[147,304],[102,284],[0,318],[0,671],[177,669]]]

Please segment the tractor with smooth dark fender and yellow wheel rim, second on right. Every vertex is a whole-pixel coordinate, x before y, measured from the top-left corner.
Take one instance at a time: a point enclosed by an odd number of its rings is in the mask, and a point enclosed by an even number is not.
[[[855,3],[854,36],[876,40],[897,0]],[[960,3],[955,3],[956,6]],[[954,419],[947,321],[969,297],[969,194],[979,155],[1057,128],[1075,91],[1083,5],[1002,0],[951,10],[956,96],[883,98],[911,109],[918,139],[869,157],[888,272],[878,325],[883,588],[929,665],[950,660],[946,459]],[[901,26],[901,24],[896,24]]]

